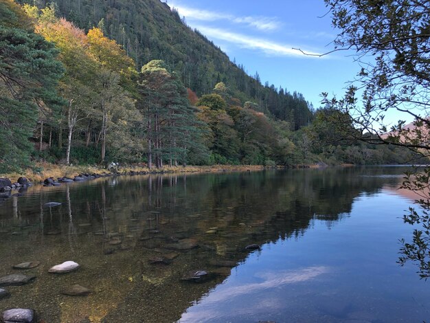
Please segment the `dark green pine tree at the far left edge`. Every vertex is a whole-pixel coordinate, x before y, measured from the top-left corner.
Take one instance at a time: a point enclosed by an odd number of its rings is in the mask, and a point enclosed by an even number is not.
[[[0,2],[0,159],[5,170],[29,165],[38,111],[57,109],[63,65],[57,49],[34,34],[13,1]]]

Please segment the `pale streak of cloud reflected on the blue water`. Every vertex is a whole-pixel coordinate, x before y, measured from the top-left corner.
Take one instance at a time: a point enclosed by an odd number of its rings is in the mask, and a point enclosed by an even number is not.
[[[273,297],[264,297],[264,291],[270,291],[282,285],[294,284],[297,282],[306,282],[317,278],[322,274],[328,273],[329,268],[324,266],[307,267],[298,270],[284,270],[284,271],[261,271],[254,275],[254,278],[261,280],[260,282],[246,282],[238,286],[221,285],[209,294],[205,299],[201,300],[199,304],[190,307],[186,313],[183,313],[179,322],[206,322],[208,320],[220,319],[225,315],[225,306],[220,304],[218,306],[214,303],[229,302],[236,304],[246,304],[240,300],[233,300],[233,298],[240,298],[249,296],[250,294],[258,293],[258,299],[252,303],[251,311],[258,311],[258,309],[282,309],[285,306],[280,300]],[[209,308],[208,308],[209,307]],[[212,307],[212,308],[211,308]],[[250,309],[247,307],[235,307],[235,313],[247,314]]]

